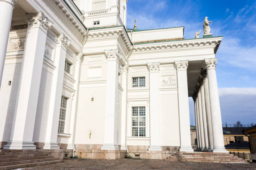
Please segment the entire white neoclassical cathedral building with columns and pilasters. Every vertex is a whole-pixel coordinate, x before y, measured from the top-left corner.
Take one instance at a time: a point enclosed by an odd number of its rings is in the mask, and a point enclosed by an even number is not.
[[[128,29],[127,1],[0,0],[1,149],[193,152],[193,97],[197,150],[227,152],[223,37]]]

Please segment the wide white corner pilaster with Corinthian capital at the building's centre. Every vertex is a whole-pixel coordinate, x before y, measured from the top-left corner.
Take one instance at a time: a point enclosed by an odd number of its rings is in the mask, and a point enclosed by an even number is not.
[[[118,63],[119,50],[105,50],[107,66],[107,94],[105,112],[105,134],[102,150],[119,150],[117,144],[117,114],[118,114]]]

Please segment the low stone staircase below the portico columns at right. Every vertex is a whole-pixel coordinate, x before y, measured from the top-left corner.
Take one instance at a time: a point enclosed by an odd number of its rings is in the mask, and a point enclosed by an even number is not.
[[[204,162],[204,163],[247,163],[247,160],[238,158],[229,153],[211,153],[211,152],[194,152],[185,153],[177,152],[168,157],[168,161],[187,161],[187,162]]]

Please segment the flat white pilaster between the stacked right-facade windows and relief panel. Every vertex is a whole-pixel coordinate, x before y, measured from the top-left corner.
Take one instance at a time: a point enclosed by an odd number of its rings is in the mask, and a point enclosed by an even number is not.
[[[148,150],[162,150],[159,135],[159,67],[160,62],[148,63],[150,88],[150,147]]]

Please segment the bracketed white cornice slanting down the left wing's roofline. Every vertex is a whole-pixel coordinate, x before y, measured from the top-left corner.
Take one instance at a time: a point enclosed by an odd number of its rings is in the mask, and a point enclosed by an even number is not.
[[[64,13],[64,15],[70,20],[70,22],[77,28],[77,30],[82,34],[85,35],[85,31],[82,29],[82,27],[85,28],[85,26],[83,25],[82,21],[77,17],[77,19],[81,22],[77,22],[70,13],[69,10],[67,10],[67,7],[65,7],[65,5],[63,5],[61,3],[61,0],[54,0],[55,4],[59,7],[60,10],[62,10],[62,12]],[[67,2],[66,2],[67,5]],[[73,11],[72,11],[73,12]],[[73,12],[74,13],[74,12]],[[74,13],[74,15],[76,15]],[[86,29],[86,28],[85,28]]]

